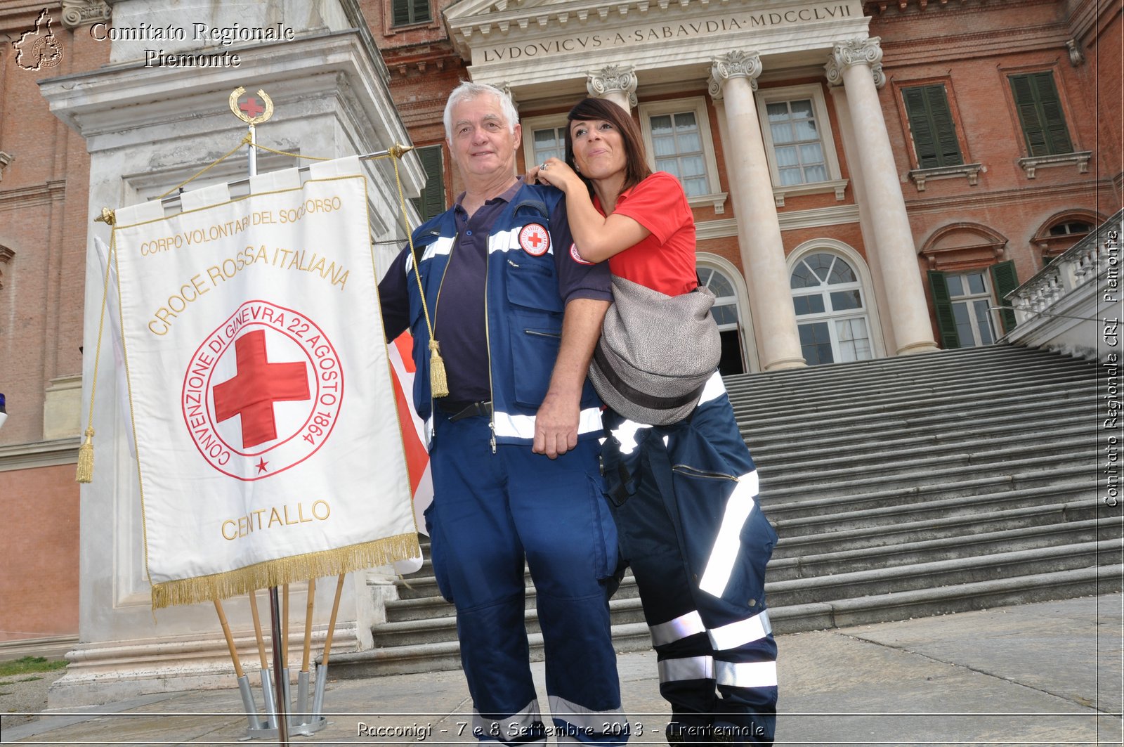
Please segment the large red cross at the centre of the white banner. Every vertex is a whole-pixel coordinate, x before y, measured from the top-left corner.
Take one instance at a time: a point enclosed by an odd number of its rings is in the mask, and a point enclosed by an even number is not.
[[[303,361],[271,363],[265,351],[265,331],[254,330],[234,343],[238,375],[215,385],[215,418],[221,423],[242,415],[242,448],[278,438],[274,402],[310,397]]]

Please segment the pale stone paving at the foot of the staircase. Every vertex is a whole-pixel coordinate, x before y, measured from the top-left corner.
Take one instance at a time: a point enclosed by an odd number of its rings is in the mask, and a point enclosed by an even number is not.
[[[1122,745],[1122,604],[1111,594],[781,636],[777,744]],[[664,744],[654,655],[623,654],[619,670],[625,710],[638,724],[632,744]],[[535,672],[542,690],[542,665]],[[239,708],[235,691],[162,694],[21,726],[0,717],[0,737],[237,744],[247,726]],[[290,742],[472,741],[460,734],[471,713],[460,672],[329,682],[325,710],[326,728]]]

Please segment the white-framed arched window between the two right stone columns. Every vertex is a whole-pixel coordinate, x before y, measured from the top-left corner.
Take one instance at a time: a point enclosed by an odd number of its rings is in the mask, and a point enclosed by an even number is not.
[[[846,260],[808,254],[792,268],[789,286],[808,366],[874,357],[862,284]]]

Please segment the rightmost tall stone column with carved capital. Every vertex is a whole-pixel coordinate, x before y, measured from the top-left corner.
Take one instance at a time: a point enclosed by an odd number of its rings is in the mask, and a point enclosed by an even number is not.
[[[894,151],[878,100],[878,87],[886,83],[881,60],[878,37],[852,39],[836,44],[824,68],[828,83],[842,83],[846,89],[896,353],[904,356],[936,350],[936,343]]]

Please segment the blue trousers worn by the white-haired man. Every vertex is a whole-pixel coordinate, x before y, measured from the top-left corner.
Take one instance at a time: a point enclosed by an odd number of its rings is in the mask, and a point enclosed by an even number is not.
[[[607,578],[617,534],[602,494],[597,441],[558,459],[529,446],[492,452],[489,421],[439,412],[426,511],[433,568],[456,605],[461,662],[480,739],[619,745],[627,740]],[[524,626],[524,560],[535,584],[553,726],[540,717]]]

